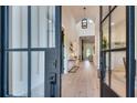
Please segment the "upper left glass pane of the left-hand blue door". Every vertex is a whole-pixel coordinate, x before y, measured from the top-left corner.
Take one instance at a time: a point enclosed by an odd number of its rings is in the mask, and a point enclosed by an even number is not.
[[[28,7],[10,7],[9,17],[9,48],[27,48]]]

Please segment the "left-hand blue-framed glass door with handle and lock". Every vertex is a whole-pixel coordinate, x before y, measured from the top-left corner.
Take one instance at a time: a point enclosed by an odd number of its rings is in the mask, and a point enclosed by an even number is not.
[[[3,96],[60,96],[61,7],[3,7]]]

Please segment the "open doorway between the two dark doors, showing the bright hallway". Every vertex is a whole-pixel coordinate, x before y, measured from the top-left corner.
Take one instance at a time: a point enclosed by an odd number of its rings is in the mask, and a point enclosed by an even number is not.
[[[99,7],[63,6],[64,73],[62,74],[63,97],[99,96],[97,76],[97,52]],[[94,18],[94,19],[93,19]],[[86,28],[82,27],[83,20]]]

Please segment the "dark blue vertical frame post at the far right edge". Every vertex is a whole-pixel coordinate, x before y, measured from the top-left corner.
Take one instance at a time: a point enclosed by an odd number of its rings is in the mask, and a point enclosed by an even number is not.
[[[135,96],[135,7],[126,7],[126,96]]]

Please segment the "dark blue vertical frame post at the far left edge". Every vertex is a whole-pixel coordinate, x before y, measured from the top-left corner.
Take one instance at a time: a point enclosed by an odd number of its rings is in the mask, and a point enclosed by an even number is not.
[[[1,7],[1,95],[6,96],[7,68],[6,68],[6,34],[7,34],[7,7]]]

